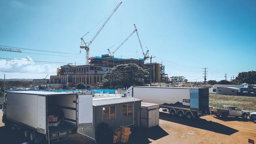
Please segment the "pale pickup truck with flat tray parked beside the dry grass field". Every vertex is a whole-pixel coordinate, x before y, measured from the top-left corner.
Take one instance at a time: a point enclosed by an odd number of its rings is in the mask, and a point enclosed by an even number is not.
[[[215,114],[217,117],[221,116],[223,118],[226,118],[227,116],[235,116],[247,119],[249,116],[248,111],[244,111],[230,105],[223,105],[220,109],[209,108],[209,111],[211,114]]]

